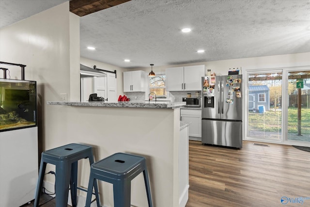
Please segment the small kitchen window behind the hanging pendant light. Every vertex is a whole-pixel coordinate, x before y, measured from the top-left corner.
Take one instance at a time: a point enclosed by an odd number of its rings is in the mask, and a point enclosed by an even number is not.
[[[159,74],[155,77],[150,77],[150,93],[154,92],[157,98],[166,98],[166,75]]]

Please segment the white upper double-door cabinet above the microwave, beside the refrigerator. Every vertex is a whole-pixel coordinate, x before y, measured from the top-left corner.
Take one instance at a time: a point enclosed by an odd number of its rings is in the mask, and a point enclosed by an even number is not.
[[[167,68],[166,90],[200,91],[204,74],[204,65]]]

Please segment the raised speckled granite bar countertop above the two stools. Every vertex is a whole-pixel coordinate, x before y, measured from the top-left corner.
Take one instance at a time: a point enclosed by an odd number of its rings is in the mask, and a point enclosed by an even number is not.
[[[186,102],[148,102],[148,101],[120,101],[116,103],[105,102],[57,102],[47,101],[47,105],[62,106],[96,106],[96,107],[122,107],[122,108],[158,108],[158,109],[176,109],[186,105]]]

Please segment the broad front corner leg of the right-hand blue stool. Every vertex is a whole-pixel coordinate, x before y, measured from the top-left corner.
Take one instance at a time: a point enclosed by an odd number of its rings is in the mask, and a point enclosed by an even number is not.
[[[130,180],[118,180],[113,183],[114,207],[130,207],[130,195]]]

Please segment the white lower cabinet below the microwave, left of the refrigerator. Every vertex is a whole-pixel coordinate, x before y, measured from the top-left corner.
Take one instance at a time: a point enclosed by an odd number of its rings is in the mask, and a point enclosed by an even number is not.
[[[189,121],[189,139],[201,140],[202,137],[202,111],[181,109],[181,121]]]

